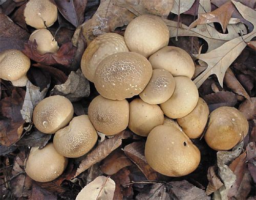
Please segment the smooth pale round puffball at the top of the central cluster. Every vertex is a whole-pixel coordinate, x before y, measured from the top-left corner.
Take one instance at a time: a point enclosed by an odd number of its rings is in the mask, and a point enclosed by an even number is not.
[[[168,45],[169,30],[160,17],[140,15],[128,24],[124,32],[124,40],[131,52],[148,58]]]

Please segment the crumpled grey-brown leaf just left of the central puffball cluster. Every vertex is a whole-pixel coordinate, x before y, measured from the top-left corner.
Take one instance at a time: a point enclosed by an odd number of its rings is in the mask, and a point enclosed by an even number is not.
[[[81,69],[71,71],[67,81],[61,85],[55,85],[51,90],[51,95],[62,95],[70,99],[71,102],[79,101],[90,94],[89,81],[83,76]]]

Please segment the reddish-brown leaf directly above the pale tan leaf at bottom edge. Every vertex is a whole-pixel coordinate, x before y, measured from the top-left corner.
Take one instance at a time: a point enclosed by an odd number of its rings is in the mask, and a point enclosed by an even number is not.
[[[113,175],[123,167],[129,165],[132,165],[132,162],[125,156],[123,151],[118,148],[101,162],[100,169],[107,175]]]

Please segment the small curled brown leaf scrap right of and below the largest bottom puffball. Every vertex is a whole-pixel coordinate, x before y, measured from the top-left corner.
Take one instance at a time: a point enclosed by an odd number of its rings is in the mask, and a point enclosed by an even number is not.
[[[223,186],[223,183],[221,180],[217,177],[215,173],[215,168],[214,166],[210,166],[208,168],[208,173],[207,173],[207,179],[209,181],[207,188],[206,188],[206,194],[210,195],[212,192],[215,192],[218,190],[221,186]]]

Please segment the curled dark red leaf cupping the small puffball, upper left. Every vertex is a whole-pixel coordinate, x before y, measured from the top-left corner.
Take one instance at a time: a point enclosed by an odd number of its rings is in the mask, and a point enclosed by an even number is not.
[[[66,68],[72,64],[76,47],[72,45],[72,42],[63,44],[57,53],[46,53],[41,55],[37,52],[36,40],[34,42],[28,41],[25,44],[23,53],[28,56],[31,60],[45,65],[62,65]]]

